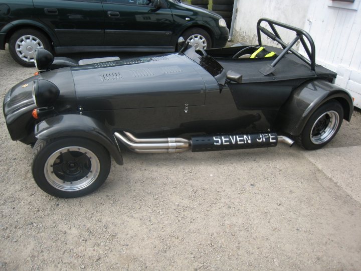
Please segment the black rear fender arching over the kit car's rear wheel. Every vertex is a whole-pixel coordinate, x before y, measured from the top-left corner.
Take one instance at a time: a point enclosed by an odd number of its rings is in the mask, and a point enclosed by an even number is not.
[[[281,107],[276,123],[279,130],[288,134],[299,135],[312,113],[323,103],[335,99],[343,107],[343,118],[350,121],[353,110],[350,94],[327,81],[308,81],[295,90]]]

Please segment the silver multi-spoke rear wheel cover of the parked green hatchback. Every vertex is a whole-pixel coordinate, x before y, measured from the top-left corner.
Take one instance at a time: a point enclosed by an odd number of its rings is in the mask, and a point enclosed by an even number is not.
[[[25,35],[17,40],[15,50],[20,59],[25,62],[34,62],[35,49],[39,47],[44,48],[41,40],[32,35]]]

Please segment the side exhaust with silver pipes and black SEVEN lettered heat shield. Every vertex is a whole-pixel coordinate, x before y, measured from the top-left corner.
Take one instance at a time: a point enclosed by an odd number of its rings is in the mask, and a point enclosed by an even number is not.
[[[115,132],[114,136],[129,150],[140,153],[182,153],[224,151],[276,147],[278,142],[292,146],[294,141],[276,133],[196,135],[192,140],[183,138],[138,139],[130,132]]]

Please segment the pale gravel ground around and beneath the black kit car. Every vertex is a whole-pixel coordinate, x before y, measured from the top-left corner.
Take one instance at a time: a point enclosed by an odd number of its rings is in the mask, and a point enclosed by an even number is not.
[[[35,69],[0,51],[0,71],[3,99]],[[359,270],[360,124],[314,152],[125,152],[95,193],[58,199],[1,117],[0,269]]]

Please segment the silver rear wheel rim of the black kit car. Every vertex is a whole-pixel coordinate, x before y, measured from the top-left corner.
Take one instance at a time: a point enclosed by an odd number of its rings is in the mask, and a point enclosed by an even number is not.
[[[339,115],[336,111],[327,111],[320,115],[313,123],[310,139],[313,144],[327,142],[336,132],[339,123]]]

